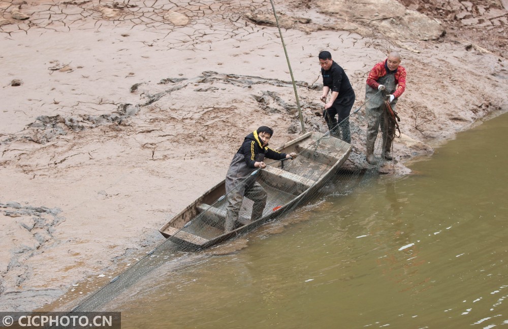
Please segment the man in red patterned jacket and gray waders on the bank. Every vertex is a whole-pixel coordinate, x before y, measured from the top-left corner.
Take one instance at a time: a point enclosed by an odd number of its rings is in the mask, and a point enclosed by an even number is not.
[[[392,51],[388,58],[374,65],[367,78],[365,103],[367,112],[366,160],[376,164],[374,143],[379,126],[383,131],[383,154],[386,160],[392,160],[390,154],[395,137],[395,123],[384,111],[383,103],[387,99],[395,111],[397,100],[406,88],[406,70],[400,65],[400,55]],[[382,90],[383,92],[378,92]]]

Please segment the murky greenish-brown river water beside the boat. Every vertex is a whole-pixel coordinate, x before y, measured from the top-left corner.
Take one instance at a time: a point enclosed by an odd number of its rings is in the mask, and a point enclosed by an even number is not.
[[[506,126],[503,114],[436,147],[411,175],[297,209],[296,223],[261,228],[246,248],[162,265],[107,308],[123,328],[506,325]]]

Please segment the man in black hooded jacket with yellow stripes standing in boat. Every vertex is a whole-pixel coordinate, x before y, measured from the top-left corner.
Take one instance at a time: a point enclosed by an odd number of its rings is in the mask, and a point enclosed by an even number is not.
[[[267,194],[263,187],[256,182],[256,177],[250,176],[255,170],[266,167],[263,159],[267,157],[273,160],[282,160],[294,158],[297,155],[296,153],[280,153],[269,148],[268,142],[272,135],[271,128],[259,127],[245,137],[242,146],[233,156],[226,174],[228,205],[226,206],[225,232],[233,231],[235,226],[241,225],[238,223],[238,213],[244,196],[254,202],[250,219],[254,221],[263,216]]]

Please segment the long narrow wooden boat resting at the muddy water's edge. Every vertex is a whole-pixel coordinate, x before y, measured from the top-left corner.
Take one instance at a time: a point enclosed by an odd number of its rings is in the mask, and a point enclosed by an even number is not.
[[[255,172],[256,181],[268,194],[260,219],[250,221],[252,202],[244,198],[239,218],[242,226],[224,232],[227,198],[223,180],[162,226],[161,234],[185,249],[195,250],[251,231],[312,198],[347,159],[351,145],[329,134],[309,132],[277,150],[299,155],[296,159],[272,163],[266,159],[267,167]]]

